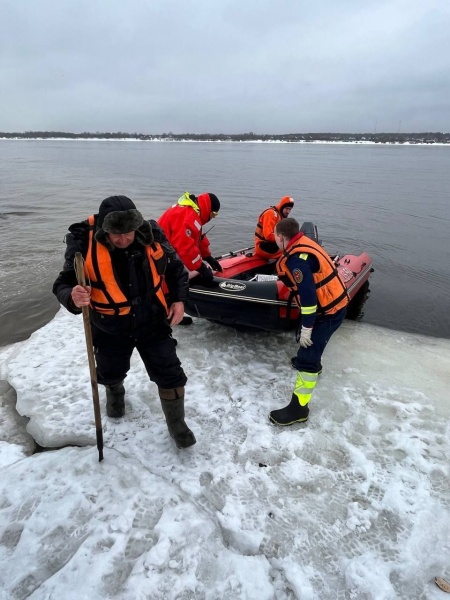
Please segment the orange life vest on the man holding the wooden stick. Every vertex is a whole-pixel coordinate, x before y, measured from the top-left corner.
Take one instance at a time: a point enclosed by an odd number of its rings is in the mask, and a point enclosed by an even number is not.
[[[84,272],[88,285],[91,286],[91,308],[104,315],[127,315],[131,311],[132,302],[120,289],[114,275],[111,253],[103,244],[97,242],[95,233],[95,216],[88,218],[89,246],[84,261]],[[155,295],[168,313],[167,302],[163,292],[164,272],[167,258],[158,242],[145,246],[150,265],[153,288],[150,295]]]

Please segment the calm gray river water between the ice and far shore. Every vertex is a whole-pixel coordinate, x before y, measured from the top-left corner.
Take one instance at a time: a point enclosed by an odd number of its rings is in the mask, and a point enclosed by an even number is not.
[[[365,322],[450,338],[449,161],[445,146],[0,140],[0,345],[58,310],[68,225],[113,194],[158,218],[185,190],[221,200],[216,255],[293,196],[330,252],[372,257]]]

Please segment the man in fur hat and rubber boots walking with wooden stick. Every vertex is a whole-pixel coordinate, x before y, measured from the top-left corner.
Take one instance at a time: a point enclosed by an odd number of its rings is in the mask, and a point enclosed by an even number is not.
[[[53,293],[67,310],[90,308],[98,382],[106,411],[125,414],[123,381],[136,348],[158,386],[169,433],[178,448],[195,444],[184,421],[187,378],[171,337],[184,312],[188,275],[156,221],[144,221],[126,196],[110,196],[98,214],[69,227],[64,267]],[[77,284],[74,256],[81,252],[89,286]]]

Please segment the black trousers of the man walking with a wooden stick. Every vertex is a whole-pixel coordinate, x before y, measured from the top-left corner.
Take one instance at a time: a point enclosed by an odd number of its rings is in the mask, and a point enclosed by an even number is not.
[[[92,331],[98,382],[111,385],[123,381],[130,370],[133,350],[139,352],[148,376],[159,388],[183,387],[187,377],[169,336],[162,339],[134,341],[109,335],[97,328]]]

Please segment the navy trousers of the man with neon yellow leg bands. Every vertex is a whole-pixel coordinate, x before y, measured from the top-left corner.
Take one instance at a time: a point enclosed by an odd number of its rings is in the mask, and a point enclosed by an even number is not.
[[[298,371],[306,373],[319,373],[322,370],[322,354],[325,350],[328,340],[339,328],[345,319],[347,308],[342,308],[334,315],[318,316],[314,323],[311,340],[312,346],[302,348],[299,346],[295,366]]]

